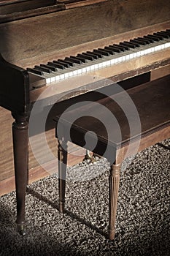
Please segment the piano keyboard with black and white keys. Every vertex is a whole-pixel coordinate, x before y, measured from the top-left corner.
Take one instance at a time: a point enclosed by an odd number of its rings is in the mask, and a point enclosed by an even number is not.
[[[40,64],[27,70],[28,73],[43,78],[48,84],[76,75],[85,75],[97,69],[110,67],[169,47],[170,29],[166,29],[166,31],[158,31],[144,37],[120,42],[117,45],[108,45],[104,48],[77,54],[77,56]]]

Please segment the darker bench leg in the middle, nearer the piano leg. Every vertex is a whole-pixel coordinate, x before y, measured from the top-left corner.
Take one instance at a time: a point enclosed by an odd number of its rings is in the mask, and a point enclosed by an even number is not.
[[[67,151],[66,143],[58,140],[58,192],[59,192],[59,211],[64,212],[65,192],[66,192],[66,165]]]

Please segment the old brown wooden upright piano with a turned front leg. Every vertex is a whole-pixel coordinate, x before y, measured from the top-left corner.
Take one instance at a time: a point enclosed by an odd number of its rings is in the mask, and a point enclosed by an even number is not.
[[[0,105],[15,119],[13,157],[21,233],[25,233],[29,116],[35,102],[45,99],[53,105],[57,97],[60,110],[62,102],[83,95],[88,99],[90,91],[108,86],[106,80],[122,84],[131,80],[136,86],[136,80],[168,75],[169,67],[169,0],[0,1]],[[1,138],[9,125],[2,124]],[[5,142],[3,146],[4,154]]]

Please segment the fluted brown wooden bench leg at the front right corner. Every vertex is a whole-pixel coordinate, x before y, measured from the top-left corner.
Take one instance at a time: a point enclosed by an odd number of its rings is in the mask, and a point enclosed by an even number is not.
[[[115,238],[117,198],[120,181],[120,165],[112,165],[109,174],[109,239]]]

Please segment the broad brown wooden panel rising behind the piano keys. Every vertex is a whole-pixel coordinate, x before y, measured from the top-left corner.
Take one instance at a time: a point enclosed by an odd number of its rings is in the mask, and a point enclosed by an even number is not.
[[[0,26],[0,52],[8,61],[133,31],[169,20],[169,0],[106,1]]]

